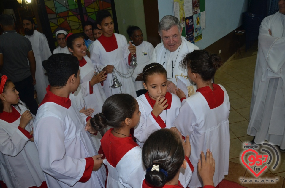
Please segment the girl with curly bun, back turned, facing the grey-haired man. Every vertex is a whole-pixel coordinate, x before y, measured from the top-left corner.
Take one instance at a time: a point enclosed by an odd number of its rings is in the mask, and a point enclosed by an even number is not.
[[[182,135],[190,136],[190,160],[193,163],[200,159],[200,151],[206,152],[209,148],[213,152],[217,167],[215,186],[228,174],[229,168],[229,96],[223,86],[211,82],[222,64],[218,54],[205,50],[186,54],[181,65],[188,69],[188,76],[197,84],[197,91],[182,101],[180,112],[173,122]],[[180,98],[185,97],[179,89],[177,94]],[[188,187],[202,187],[197,170],[194,170]]]

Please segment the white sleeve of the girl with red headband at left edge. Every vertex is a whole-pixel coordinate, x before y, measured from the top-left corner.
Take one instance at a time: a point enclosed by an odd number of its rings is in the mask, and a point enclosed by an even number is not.
[[[29,139],[19,128],[15,130],[12,136],[9,136],[4,129],[0,128],[0,152],[15,157],[23,150]]]

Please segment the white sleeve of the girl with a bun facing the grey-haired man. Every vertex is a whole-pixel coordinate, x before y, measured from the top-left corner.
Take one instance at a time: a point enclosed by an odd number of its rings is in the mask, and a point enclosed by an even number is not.
[[[193,109],[184,99],[179,109],[179,114],[173,121],[173,125],[181,132],[183,136],[191,135],[195,129],[196,117]]]

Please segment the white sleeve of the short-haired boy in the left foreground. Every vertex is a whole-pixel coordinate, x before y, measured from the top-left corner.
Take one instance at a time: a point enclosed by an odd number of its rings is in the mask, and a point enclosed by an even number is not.
[[[43,117],[37,121],[34,140],[42,170],[72,187],[82,177],[86,160],[65,155],[65,129],[58,118]]]

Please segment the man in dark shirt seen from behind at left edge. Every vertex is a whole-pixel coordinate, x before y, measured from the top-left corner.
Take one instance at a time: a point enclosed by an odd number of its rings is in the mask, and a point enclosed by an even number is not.
[[[31,42],[15,31],[11,15],[0,15],[0,72],[14,83],[21,101],[36,115],[38,105],[34,99],[36,61]],[[28,64],[28,60],[29,64]]]

